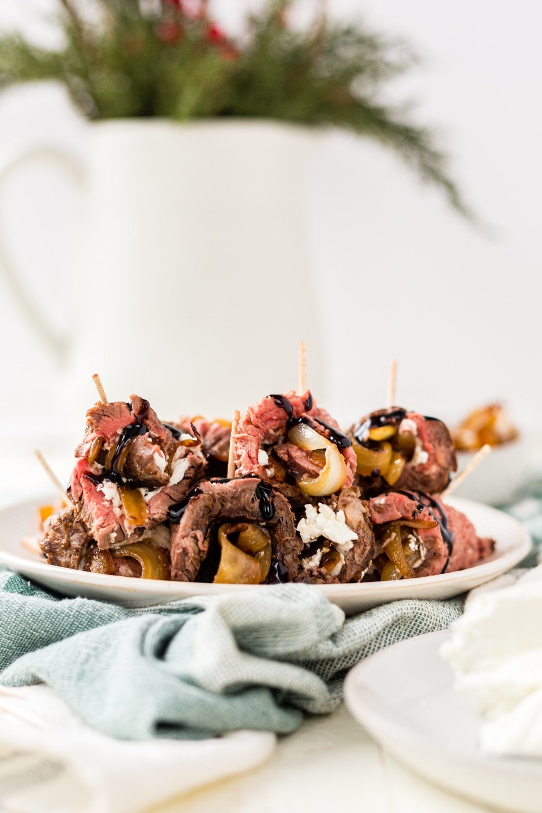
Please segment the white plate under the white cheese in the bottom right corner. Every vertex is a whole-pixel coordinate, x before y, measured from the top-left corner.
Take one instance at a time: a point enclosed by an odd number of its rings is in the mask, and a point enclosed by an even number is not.
[[[439,655],[449,633],[429,633],[388,647],[354,667],[345,702],[363,728],[411,770],[499,810],[540,813],[542,760],[485,756],[479,716],[453,690]]]

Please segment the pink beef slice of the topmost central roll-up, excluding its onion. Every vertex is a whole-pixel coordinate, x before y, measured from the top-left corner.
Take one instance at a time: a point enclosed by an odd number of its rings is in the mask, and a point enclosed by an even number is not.
[[[291,443],[288,430],[305,422],[327,440],[336,442],[345,459],[346,478],[343,485],[352,485],[356,472],[356,455],[350,441],[335,420],[315,405],[310,392],[268,395],[249,406],[241,418],[236,433],[236,472],[239,476],[255,475],[267,480],[285,496],[297,502],[306,502],[297,489],[296,476],[319,476],[324,456],[318,459],[314,452],[301,450]],[[295,451],[293,450],[295,446]],[[288,480],[289,477],[289,480]]]

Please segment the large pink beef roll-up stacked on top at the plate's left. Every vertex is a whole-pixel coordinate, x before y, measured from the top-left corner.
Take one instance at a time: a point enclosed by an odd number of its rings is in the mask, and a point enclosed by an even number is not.
[[[137,395],[89,410],[76,457],[68,493],[104,550],[167,520],[205,465],[199,438],[167,428]]]

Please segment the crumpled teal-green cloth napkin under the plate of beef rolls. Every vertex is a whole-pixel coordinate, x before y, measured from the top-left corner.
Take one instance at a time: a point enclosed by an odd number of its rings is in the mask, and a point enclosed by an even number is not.
[[[448,628],[462,599],[393,602],[345,620],[309,585],[237,590],[129,610],[55,598],[0,573],[0,683],[45,683],[111,737],[288,733],[332,711],[345,672],[407,637]]]

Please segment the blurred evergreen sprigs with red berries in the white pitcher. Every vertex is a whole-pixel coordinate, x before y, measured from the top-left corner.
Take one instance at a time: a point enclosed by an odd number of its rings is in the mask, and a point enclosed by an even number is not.
[[[239,41],[213,22],[205,0],[196,9],[186,0],[93,0],[92,21],[73,0],[57,2],[63,45],[0,37],[0,86],[57,80],[94,120],[229,116],[348,129],[395,150],[469,214],[431,131],[381,101],[388,80],[414,62],[401,43],[324,16],[292,28],[291,0],[268,2]]]

